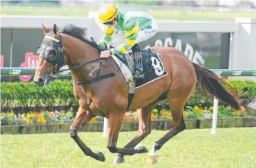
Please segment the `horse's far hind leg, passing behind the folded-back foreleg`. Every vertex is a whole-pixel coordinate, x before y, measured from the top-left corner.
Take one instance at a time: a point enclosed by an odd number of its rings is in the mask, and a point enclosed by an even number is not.
[[[155,107],[156,102],[152,102],[151,104],[143,107],[142,109],[137,109],[137,119],[139,120],[139,131],[137,135],[128,143],[124,148],[134,148],[137,144],[139,144],[147,135],[150,134],[150,119],[151,112],[153,107]],[[145,148],[144,146],[140,146],[139,148]],[[124,162],[123,154],[119,154],[114,159],[114,164],[119,164]]]

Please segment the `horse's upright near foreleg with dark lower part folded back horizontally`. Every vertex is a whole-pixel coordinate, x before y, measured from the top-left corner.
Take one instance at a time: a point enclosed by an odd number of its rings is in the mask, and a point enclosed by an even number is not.
[[[147,150],[134,148],[117,148],[116,143],[123,123],[123,114],[111,112],[108,115],[108,143],[107,148],[111,153],[122,153],[124,155],[134,155],[135,153],[145,153]]]

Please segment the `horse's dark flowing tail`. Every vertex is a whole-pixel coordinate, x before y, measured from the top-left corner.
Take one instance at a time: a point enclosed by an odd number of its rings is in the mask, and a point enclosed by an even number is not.
[[[193,63],[197,75],[197,91],[202,96],[217,98],[223,102],[240,109],[241,103],[236,98],[234,89],[224,79],[215,75],[211,70]]]

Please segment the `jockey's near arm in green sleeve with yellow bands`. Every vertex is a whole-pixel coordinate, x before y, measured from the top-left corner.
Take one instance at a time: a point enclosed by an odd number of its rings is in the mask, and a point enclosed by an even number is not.
[[[126,31],[124,31],[123,44],[110,49],[113,54],[123,54],[128,49],[131,49],[136,43],[137,33],[139,32],[139,24],[136,22],[130,23],[128,21],[125,25],[125,29]]]

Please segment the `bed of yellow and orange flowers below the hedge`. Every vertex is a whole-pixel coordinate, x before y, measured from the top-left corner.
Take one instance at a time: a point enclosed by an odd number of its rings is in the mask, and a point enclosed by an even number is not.
[[[211,119],[213,107],[190,107],[186,106],[183,111],[185,119]],[[218,118],[223,117],[252,117],[256,116],[253,109],[242,108],[241,110],[234,110],[231,107],[218,107]],[[45,124],[45,123],[72,123],[75,119],[73,112],[28,112],[24,114],[15,114],[15,112],[1,113],[1,125],[28,125],[28,124]],[[151,113],[151,121],[156,120],[172,120],[170,110],[153,109]],[[103,118],[97,116],[93,118],[90,123],[102,122]],[[137,121],[136,112],[126,112],[123,121]]]

